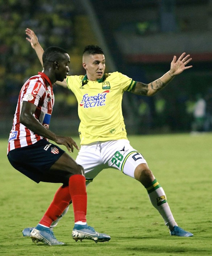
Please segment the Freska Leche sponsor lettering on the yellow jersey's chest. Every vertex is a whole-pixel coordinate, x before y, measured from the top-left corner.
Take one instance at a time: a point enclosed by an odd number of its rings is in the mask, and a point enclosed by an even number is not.
[[[98,93],[94,96],[88,96],[88,94],[84,94],[82,101],[80,102],[80,106],[84,107],[86,109],[90,107],[100,107],[105,105],[107,94],[110,92],[110,90],[106,90],[102,93]]]

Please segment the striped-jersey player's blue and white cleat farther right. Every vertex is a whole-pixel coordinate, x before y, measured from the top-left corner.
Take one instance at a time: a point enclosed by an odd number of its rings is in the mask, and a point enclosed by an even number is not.
[[[108,242],[111,239],[110,236],[96,232],[93,227],[90,227],[87,224],[86,225],[75,224],[72,230],[72,238],[76,242],[78,240],[80,240],[81,242],[83,239],[89,239],[89,240],[95,241],[95,243],[97,242],[103,243],[106,241]]]

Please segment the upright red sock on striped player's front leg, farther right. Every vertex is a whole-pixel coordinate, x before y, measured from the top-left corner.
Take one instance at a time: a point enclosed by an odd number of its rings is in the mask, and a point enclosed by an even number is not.
[[[74,210],[74,222],[86,222],[87,213],[87,192],[86,178],[83,175],[75,174],[69,178],[69,191]]]

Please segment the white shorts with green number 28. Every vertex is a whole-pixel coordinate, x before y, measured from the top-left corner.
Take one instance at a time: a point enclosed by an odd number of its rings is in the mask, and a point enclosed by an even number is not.
[[[93,179],[106,168],[116,168],[134,178],[134,170],[138,164],[146,163],[144,157],[127,139],[96,142],[82,145],[76,162],[83,166],[86,178]]]

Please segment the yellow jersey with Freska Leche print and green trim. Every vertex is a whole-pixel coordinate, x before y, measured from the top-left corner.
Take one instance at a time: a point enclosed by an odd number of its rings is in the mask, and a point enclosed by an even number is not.
[[[80,144],[126,139],[122,96],[136,81],[120,72],[104,74],[97,81],[85,76],[67,76],[68,88],[78,101]]]

